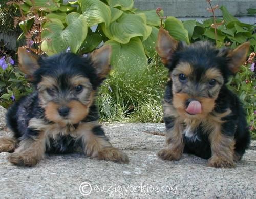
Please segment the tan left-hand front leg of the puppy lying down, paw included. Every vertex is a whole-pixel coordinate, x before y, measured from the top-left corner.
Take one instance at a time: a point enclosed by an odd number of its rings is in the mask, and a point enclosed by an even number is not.
[[[19,147],[10,154],[8,160],[17,166],[34,166],[44,158],[45,150],[45,135],[41,132],[35,139],[20,141]]]

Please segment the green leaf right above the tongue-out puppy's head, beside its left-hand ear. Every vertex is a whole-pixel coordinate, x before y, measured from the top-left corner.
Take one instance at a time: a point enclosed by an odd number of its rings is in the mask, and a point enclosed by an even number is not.
[[[168,30],[169,34],[172,35],[176,40],[186,41],[186,43],[189,44],[188,31],[184,28],[182,22],[179,19],[173,16],[169,16],[165,20],[164,28]]]

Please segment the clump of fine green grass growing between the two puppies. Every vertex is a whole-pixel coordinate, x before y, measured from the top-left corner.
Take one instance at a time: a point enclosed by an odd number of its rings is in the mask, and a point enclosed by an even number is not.
[[[155,63],[115,69],[99,90],[101,120],[161,122],[166,81],[167,69]]]

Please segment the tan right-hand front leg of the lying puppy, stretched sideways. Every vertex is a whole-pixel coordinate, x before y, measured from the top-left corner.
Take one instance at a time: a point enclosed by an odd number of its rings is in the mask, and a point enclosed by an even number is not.
[[[103,130],[100,135],[96,135],[92,132],[91,129],[94,126],[95,125],[88,128],[88,123],[80,124],[79,126],[78,134],[80,134],[80,136],[77,139],[81,139],[84,153],[90,157],[98,157],[99,160],[128,163],[129,158],[127,155],[111,145],[104,135]]]

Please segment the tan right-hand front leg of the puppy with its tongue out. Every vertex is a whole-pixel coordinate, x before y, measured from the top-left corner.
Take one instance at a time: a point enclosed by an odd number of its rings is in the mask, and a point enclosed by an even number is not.
[[[220,126],[216,126],[209,135],[209,139],[212,156],[208,160],[208,166],[216,168],[234,167],[234,139],[223,135]]]

